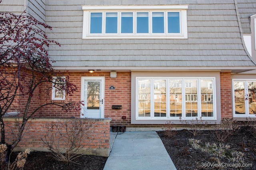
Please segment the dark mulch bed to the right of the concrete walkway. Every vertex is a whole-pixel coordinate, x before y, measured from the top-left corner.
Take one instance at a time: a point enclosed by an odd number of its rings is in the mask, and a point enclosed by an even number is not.
[[[210,131],[202,131],[200,135],[194,136],[188,130],[177,131],[172,137],[164,136],[163,131],[158,131],[158,135],[162,139],[164,146],[172,158],[177,170],[209,170],[209,169],[224,169],[224,170],[256,170],[256,139],[250,134],[247,127],[241,127],[234,135],[229,137],[223,143],[230,145],[230,149],[241,151],[244,153],[244,163],[250,167],[238,167],[238,164],[231,162],[228,158],[220,158],[223,163],[220,167],[213,165],[212,154],[203,152],[200,149],[194,149],[189,144],[188,139],[198,139],[202,143],[216,143],[218,141],[212,136]]]

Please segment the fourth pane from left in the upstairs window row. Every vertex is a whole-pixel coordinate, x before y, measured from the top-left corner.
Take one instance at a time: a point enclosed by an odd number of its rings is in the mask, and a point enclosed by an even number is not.
[[[137,33],[148,33],[148,12],[137,12]]]

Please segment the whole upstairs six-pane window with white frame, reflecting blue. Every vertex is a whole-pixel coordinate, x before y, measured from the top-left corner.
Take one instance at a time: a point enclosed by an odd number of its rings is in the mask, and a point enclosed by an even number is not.
[[[83,39],[187,38],[187,5],[83,6]]]

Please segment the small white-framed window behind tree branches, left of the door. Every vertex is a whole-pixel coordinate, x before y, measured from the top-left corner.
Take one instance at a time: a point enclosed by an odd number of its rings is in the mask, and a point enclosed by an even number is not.
[[[64,76],[52,78],[52,100],[65,100],[65,80]]]

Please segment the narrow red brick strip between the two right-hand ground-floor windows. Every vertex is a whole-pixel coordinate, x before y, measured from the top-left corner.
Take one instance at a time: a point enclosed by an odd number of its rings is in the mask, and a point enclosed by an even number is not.
[[[230,72],[220,72],[221,118],[232,118],[232,81]]]

